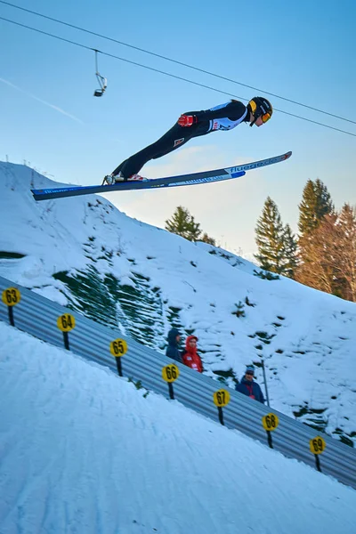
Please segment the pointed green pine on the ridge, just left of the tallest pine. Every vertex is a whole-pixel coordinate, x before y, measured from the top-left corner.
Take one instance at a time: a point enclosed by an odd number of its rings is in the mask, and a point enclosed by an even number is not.
[[[263,214],[255,228],[255,242],[258,254],[255,255],[261,267],[266,271],[290,275],[294,268],[292,255],[296,244],[293,234],[287,226],[283,228],[278,206],[268,197],[264,203]]]

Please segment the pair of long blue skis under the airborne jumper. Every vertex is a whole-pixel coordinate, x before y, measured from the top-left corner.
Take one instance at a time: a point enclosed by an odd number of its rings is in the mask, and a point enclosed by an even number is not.
[[[31,192],[35,200],[38,201],[49,200],[51,198],[77,197],[79,195],[90,195],[93,193],[110,193],[112,191],[149,190],[162,187],[178,187],[182,185],[222,182],[223,180],[240,178],[241,176],[244,176],[247,171],[279,163],[280,161],[290,158],[291,155],[292,152],[286,152],[286,154],[275,156],[274,158],[261,159],[260,161],[216,169],[214,171],[205,171],[203,173],[182,174],[142,181],[117,182],[113,185],[69,186],[55,189],[31,190]]]

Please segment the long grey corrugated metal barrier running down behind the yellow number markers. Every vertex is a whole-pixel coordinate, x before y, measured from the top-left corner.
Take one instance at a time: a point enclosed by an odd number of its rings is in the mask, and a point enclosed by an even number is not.
[[[37,295],[35,291],[0,277],[0,295],[7,294],[5,290],[10,287],[20,291],[20,302],[13,306],[0,302],[0,320],[7,323],[13,320],[16,328],[45,342],[63,347],[63,338],[66,334],[57,327],[57,320],[63,314],[70,314],[76,322],[76,327],[67,334],[70,351],[96,361],[117,373],[117,362],[110,353],[109,346],[117,338],[123,339],[127,344],[127,352],[121,360],[123,376],[130,376],[134,381],[140,380],[143,387],[167,397],[168,387],[162,379],[162,368],[174,363],[180,371],[178,380],[174,382],[174,398],[199,414],[215,421],[219,419],[213,394],[221,388],[220,383],[173,362],[165,355],[138,344],[130,337],[122,336],[118,328],[104,327]],[[262,419],[272,412],[279,418],[279,426],[272,433],[273,449],[279,450],[286,457],[296,458],[313,467],[317,466],[322,473],[334,476],[338,481],[356,489],[355,449],[323,433],[321,436],[325,449],[322,454],[314,455],[310,449],[310,441],[318,435],[316,430],[277,410],[252,401],[239,392],[229,389],[229,393],[231,395],[229,404],[220,409],[223,410],[225,426],[236,428],[247,436],[266,443],[267,436],[271,438],[271,433],[266,433],[264,430]]]

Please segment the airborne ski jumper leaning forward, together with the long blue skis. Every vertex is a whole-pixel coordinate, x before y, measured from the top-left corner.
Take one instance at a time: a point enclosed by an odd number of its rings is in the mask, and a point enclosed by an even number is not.
[[[229,101],[205,111],[190,111],[179,117],[177,123],[157,142],[125,159],[115,171],[106,176],[101,185],[68,186],[64,188],[31,190],[35,200],[66,198],[88,195],[91,193],[109,193],[110,191],[148,190],[182,185],[222,182],[244,176],[247,171],[270,166],[290,158],[292,152],[286,152],[273,158],[261,159],[239,166],[224,167],[202,173],[166,176],[150,180],[137,174],[142,166],[150,161],[165,156],[179,148],[193,137],[210,134],[218,130],[232,130],[241,123],[261,126],[270,120],[273,109],[264,97],[256,96],[245,106],[240,101]],[[108,185],[104,185],[108,184]]]

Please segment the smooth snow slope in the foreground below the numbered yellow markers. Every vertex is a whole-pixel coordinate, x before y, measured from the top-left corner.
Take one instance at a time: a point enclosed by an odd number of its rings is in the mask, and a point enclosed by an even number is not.
[[[1,534],[354,532],[355,490],[4,323],[0,373]]]

